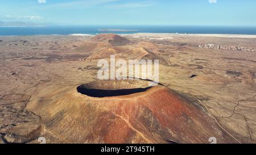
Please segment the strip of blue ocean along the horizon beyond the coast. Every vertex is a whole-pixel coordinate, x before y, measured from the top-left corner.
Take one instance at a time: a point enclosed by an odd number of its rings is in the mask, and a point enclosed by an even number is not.
[[[0,27],[0,36],[71,35],[98,33],[201,33],[256,35],[256,27],[210,26],[49,26]]]

